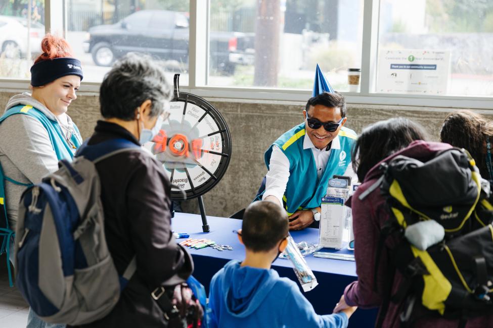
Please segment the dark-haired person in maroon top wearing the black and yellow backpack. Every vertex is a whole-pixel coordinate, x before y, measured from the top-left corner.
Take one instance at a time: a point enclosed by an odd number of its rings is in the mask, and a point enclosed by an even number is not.
[[[424,129],[404,118],[377,122],[365,128],[353,148],[352,163],[362,185],[356,190],[348,205],[352,209],[354,230],[354,256],[358,280],[349,284],[334,312],[349,306],[360,308],[380,307],[378,325],[385,328],[401,326],[400,315],[407,309],[406,298],[391,300],[404,282],[391,258],[398,239],[388,238],[383,247],[379,239],[384,224],[389,220],[386,196],[380,188],[372,188],[382,176],[380,163],[396,155],[411,158],[430,158],[450,145],[427,142]],[[365,197],[360,196],[365,193]],[[377,261],[377,252],[380,252]],[[418,302],[416,302],[418,303]],[[416,307],[416,305],[415,305]],[[414,312],[409,327],[456,328],[459,320],[430,316],[421,307]],[[462,321],[461,321],[462,322]],[[480,316],[467,320],[465,327],[493,326],[493,317]]]

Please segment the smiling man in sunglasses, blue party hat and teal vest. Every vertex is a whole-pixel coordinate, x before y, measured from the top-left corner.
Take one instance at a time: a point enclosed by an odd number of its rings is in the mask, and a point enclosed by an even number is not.
[[[334,92],[317,65],[312,97],[303,123],[280,136],[265,152],[268,172],[255,200],[271,200],[286,208],[289,229],[317,227],[329,179],[356,179],[351,148],[356,133],[346,127],[344,96]]]

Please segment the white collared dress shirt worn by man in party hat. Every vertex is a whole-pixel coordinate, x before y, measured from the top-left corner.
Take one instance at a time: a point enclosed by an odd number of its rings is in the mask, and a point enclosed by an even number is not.
[[[332,140],[331,148],[320,150],[315,147],[310,138],[305,135],[303,140],[303,149],[311,149],[313,158],[315,159],[315,166],[317,168],[317,176],[320,179],[325,172],[325,167],[329,161],[330,152],[332,149],[341,149],[339,136],[336,136]],[[351,177],[351,184],[357,182],[357,176],[352,170],[352,165],[349,163],[344,176]],[[286,191],[286,186],[289,180],[289,159],[284,152],[276,145],[272,147],[271,160],[269,162],[269,171],[266,175],[265,192],[262,195],[262,199],[267,196],[275,196],[279,203],[283,204],[283,195]]]

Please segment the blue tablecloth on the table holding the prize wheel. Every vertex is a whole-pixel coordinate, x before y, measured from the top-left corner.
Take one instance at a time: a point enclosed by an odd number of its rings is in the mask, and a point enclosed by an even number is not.
[[[210,226],[209,233],[202,232],[200,215],[188,213],[175,213],[172,219],[172,228],[177,233],[188,233],[191,238],[207,238],[217,244],[230,245],[233,250],[217,251],[211,247],[202,249],[189,249],[194,259],[194,277],[197,278],[209,293],[209,283],[212,276],[222,266],[232,259],[242,260],[245,256],[244,246],[240,244],[238,236],[233,230],[241,228],[241,220],[226,217],[207,216]],[[318,240],[318,229],[308,228],[302,231],[291,232],[294,240],[315,242]],[[182,241],[183,239],[177,239]],[[357,279],[356,266],[353,261],[305,257],[306,262],[315,274],[319,285],[315,289],[303,293],[311,302],[318,314],[332,313],[332,309],[339,301],[344,288]],[[290,260],[278,258],[273,263],[273,268],[281,277],[288,277],[298,283]],[[299,286],[299,284],[298,284]],[[373,327],[377,311],[358,309],[349,320],[349,327]]]

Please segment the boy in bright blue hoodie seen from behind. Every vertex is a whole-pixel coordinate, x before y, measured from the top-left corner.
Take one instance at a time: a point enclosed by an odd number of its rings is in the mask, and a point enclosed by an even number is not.
[[[210,284],[207,310],[213,327],[347,327],[356,307],[340,313],[318,315],[298,286],[280,278],[272,262],[287,246],[286,211],[270,201],[256,201],[245,210],[240,242],[243,262],[232,260]]]

